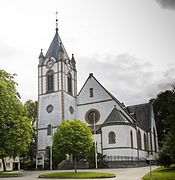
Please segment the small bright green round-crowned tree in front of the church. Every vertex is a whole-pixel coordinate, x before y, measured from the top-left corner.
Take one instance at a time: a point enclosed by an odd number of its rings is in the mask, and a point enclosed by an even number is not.
[[[86,123],[78,119],[65,120],[58,125],[53,147],[63,154],[73,154],[76,168],[77,155],[88,153],[93,146],[92,133]]]

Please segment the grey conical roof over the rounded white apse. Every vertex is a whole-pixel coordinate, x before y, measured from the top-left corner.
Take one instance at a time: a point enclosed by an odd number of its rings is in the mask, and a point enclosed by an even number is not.
[[[121,111],[119,111],[116,107],[114,107],[114,109],[109,114],[109,116],[107,117],[107,119],[103,124],[111,124],[111,123],[113,124],[116,122],[128,123],[128,120]]]

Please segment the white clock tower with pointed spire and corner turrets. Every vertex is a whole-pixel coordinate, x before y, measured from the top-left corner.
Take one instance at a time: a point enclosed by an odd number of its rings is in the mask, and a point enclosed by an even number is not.
[[[77,70],[74,55],[69,58],[58,33],[44,55],[41,49],[38,64],[38,154],[51,146],[51,134],[58,123],[77,116]],[[50,131],[49,131],[50,128]]]

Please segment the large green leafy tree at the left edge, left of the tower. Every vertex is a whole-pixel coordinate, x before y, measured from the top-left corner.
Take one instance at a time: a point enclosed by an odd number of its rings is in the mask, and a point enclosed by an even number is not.
[[[0,70],[0,158],[16,157],[28,150],[32,127],[16,90],[14,75]]]

